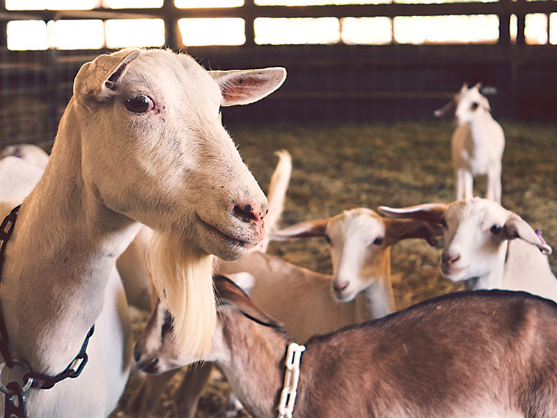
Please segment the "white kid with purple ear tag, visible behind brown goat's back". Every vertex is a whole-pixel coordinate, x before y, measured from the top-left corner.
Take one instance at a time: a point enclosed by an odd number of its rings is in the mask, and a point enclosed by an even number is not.
[[[451,281],[464,281],[470,290],[527,291],[557,301],[557,279],[547,258],[551,247],[524,219],[499,203],[476,197],[448,205],[381,206],[379,211],[443,226],[441,270]]]

